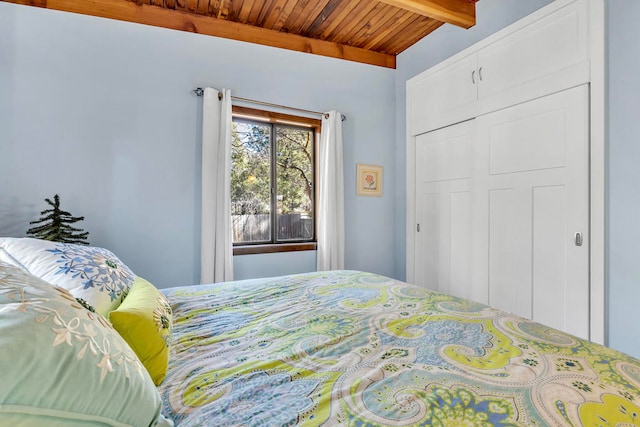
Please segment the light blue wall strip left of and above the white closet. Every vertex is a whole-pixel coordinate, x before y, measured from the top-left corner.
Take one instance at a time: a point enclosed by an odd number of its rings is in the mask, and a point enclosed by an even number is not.
[[[396,248],[395,277],[406,279],[406,82],[428,68],[490,36],[551,0],[482,0],[476,3],[476,25],[468,30],[443,25],[397,56],[396,69]]]

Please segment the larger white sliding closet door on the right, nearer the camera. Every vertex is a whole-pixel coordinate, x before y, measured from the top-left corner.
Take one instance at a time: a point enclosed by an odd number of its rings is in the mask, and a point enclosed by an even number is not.
[[[583,85],[478,117],[472,190],[472,268],[488,303],[583,338],[588,105]]]

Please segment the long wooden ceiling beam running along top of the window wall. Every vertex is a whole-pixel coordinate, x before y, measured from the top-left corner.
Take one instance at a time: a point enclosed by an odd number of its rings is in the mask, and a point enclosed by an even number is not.
[[[179,10],[139,4],[128,0],[1,1],[240,40],[386,68],[396,67],[395,55],[253,27],[208,16],[193,15]]]

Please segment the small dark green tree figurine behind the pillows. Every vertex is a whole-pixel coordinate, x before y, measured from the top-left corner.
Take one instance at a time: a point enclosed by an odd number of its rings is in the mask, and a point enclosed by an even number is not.
[[[69,225],[82,221],[83,216],[72,216],[69,212],[60,209],[60,196],[57,194],[53,197],[53,202],[51,199],[44,199],[44,201],[51,205],[52,209],[43,210],[40,212],[40,215],[43,215],[42,218],[29,222],[29,224],[42,225],[30,228],[27,230],[27,235],[54,242],[89,244],[86,241],[89,232]]]

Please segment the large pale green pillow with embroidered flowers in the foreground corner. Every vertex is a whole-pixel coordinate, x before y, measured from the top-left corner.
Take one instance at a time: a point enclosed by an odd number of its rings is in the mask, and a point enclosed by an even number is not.
[[[101,315],[0,262],[0,425],[170,425],[153,381]]]

